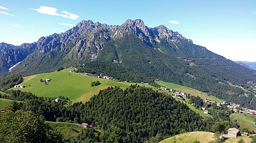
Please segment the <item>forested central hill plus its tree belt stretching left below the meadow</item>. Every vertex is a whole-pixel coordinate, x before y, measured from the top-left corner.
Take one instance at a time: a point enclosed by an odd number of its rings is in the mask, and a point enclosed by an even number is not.
[[[13,103],[13,111],[32,111],[50,121],[85,122],[104,129],[106,133],[109,129],[118,129],[122,133],[119,135],[122,142],[144,142],[157,134],[172,136],[204,129],[199,114],[184,103],[135,85],[125,90],[108,88],[89,102],[71,106],[64,106],[65,103],[55,102],[52,98],[35,97],[31,93],[11,90],[9,94],[17,99],[27,98],[26,102]]]

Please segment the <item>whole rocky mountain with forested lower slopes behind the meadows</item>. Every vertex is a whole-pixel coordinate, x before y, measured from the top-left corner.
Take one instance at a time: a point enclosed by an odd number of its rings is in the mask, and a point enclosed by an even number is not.
[[[242,89],[250,89],[249,81],[256,83],[254,70],[193,44],[164,25],[147,27],[141,19],[128,19],[122,25],[83,20],[64,33],[41,37],[32,44],[1,43],[0,54],[2,76],[76,65],[80,72],[151,84],[159,79],[244,106],[256,105],[253,90]]]

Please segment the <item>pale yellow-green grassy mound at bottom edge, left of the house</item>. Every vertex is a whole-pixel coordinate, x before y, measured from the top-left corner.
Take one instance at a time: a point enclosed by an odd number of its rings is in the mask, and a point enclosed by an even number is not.
[[[210,132],[183,133],[181,135],[176,135],[176,136],[167,138],[166,140],[163,140],[160,143],[174,143],[174,142],[189,143],[195,140],[200,141],[200,143],[208,143],[214,140],[214,133],[210,133]]]

